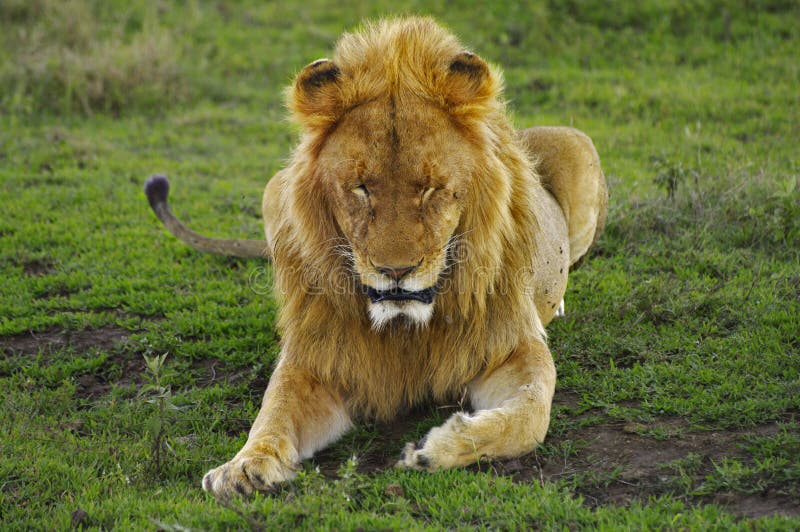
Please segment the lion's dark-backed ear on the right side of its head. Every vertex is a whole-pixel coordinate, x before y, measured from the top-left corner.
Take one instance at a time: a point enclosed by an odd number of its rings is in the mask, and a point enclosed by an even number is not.
[[[500,90],[500,81],[489,65],[475,54],[462,52],[450,60],[445,91],[451,105],[482,103]]]

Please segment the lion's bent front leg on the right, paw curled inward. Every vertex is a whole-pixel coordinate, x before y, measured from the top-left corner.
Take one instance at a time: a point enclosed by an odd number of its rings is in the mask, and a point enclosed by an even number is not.
[[[458,412],[417,445],[409,443],[398,467],[435,471],[482,456],[510,458],[544,441],[556,372],[547,346],[519,347],[500,367],[469,385],[473,414]]]

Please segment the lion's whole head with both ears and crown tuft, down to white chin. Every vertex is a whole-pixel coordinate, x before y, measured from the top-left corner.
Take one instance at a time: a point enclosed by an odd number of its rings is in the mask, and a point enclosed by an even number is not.
[[[413,45],[428,39],[436,44]],[[314,245],[324,238],[351,259],[376,328],[401,316],[427,323],[460,220],[494,216],[481,202],[502,191],[472,180],[497,164],[487,125],[502,115],[501,86],[428,20],[345,36],[333,59],[295,79],[288,105],[306,132],[297,160],[307,177],[294,185],[296,209]]]

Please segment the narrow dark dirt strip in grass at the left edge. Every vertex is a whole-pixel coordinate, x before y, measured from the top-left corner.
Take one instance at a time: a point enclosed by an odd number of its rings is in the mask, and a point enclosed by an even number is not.
[[[0,338],[0,349],[7,355],[52,353],[70,347],[77,352],[91,348],[113,350],[128,339],[130,331],[121,327],[102,327],[85,331],[50,328]]]

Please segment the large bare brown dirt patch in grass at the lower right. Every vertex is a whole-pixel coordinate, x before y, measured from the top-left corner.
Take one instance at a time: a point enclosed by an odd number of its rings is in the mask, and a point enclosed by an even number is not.
[[[657,439],[642,434],[645,430],[669,437]],[[607,424],[548,439],[550,449],[569,450],[562,455],[534,452],[517,460],[493,462],[491,467],[519,482],[575,479],[576,494],[583,496],[589,506],[627,506],[636,500],[673,494],[683,496],[690,504],[716,502],[746,517],[775,513],[800,516],[800,508],[782,495],[686,495],[703,483],[715,463],[725,458],[750,462],[741,447],[748,438],[779,431],[776,423],[747,431],[691,431],[680,419],[661,420],[646,427]]]

